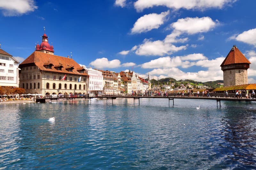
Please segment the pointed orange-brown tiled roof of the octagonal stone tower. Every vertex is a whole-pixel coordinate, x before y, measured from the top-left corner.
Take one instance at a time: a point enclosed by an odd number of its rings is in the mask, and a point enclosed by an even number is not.
[[[234,45],[220,66],[238,63],[251,64],[250,61],[244,57],[244,54]]]

